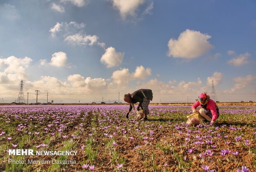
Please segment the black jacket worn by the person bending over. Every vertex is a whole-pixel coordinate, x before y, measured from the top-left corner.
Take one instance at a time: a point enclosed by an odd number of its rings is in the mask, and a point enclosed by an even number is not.
[[[139,89],[139,90],[131,93],[130,98],[133,103],[140,102],[139,106],[137,108],[139,110],[140,107],[142,106],[142,102],[143,102],[144,98],[147,98],[151,101],[153,100],[153,93],[152,93],[152,90],[150,90],[150,89]],[[132,105],[130,105],[129,111],[131,111],[132,109],[133,109],[133,107],[132,107]]]

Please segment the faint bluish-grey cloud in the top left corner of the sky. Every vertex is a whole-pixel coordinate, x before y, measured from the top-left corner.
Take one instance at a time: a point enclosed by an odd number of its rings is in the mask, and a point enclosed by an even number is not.
[[[0,5],[0,19],[14,21],[19,19],[19,11],[14,5],[3,4]]]

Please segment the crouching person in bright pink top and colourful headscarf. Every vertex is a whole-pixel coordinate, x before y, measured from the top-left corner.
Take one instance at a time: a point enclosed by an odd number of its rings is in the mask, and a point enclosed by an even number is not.
[[[197,109],[199,106],[201,109]],[[191,109],[193,113],[198,112],[207,121],[211,121],[211,124],[213,124],[220,115],[218,106],[206,93],[199,95],[198,100],[192,105]]]

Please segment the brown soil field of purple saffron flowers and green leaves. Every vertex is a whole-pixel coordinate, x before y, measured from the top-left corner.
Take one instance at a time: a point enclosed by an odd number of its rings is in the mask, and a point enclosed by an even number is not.
[[[255,106],[219,106],[214,126],[188,126],[190,106],[151,105],[142,122],[135,112],[126,119],[128,108],[1,106],[0,171],[256,171]],[[77,153],[15,156],[9,149]]]

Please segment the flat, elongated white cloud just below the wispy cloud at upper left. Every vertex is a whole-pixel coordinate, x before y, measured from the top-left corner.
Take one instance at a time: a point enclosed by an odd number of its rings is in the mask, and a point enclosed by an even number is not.
[[[75,35],[69,35],[65,38],[64,41],[79,46],[86,46],[97,43],[98,37],[96,35],[81,35],[80,33],[76,33]]]

